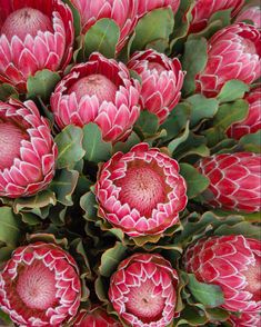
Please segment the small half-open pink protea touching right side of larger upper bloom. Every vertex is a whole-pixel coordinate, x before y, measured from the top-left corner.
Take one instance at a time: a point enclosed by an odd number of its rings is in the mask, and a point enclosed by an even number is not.
[[[155,113],[162,123],[180,100],[184,73],[179,59],[145,50],[135,52],[128,67],[142,80],[141,108]]]

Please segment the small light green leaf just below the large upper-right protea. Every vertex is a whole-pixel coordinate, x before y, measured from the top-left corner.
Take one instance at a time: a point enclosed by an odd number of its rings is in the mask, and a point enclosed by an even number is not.
[[[249,86],[241,80],[232,79],[224,83],[217,99],[220,103],[232,102],[243,98],[244,93],[249,91]]]

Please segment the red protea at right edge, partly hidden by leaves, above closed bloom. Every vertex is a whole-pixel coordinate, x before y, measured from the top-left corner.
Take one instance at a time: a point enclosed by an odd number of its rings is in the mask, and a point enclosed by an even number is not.
[[[261,87],[253,89],[244,99],[249,102],[248,117],[243,121],[233,123],[227,131],[230,138],[237,140],[261,129]]]

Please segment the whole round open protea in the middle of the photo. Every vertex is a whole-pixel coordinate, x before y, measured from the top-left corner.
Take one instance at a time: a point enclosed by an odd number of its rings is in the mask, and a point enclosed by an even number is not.
[[[117,152],[101,167],[96,186],[99,215],[133,237],[178,224],[185,191],[178,162],[147,143]]]

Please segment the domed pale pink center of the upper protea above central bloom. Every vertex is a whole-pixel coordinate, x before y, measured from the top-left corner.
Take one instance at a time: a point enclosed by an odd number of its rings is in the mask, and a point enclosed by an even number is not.
[[[117,86],[106,76],[100,73],[89,75],[77,81],[70,89],[69,93],[76,92],[78,101],[84,96],[96,96],[99,102],[114,102]]]

